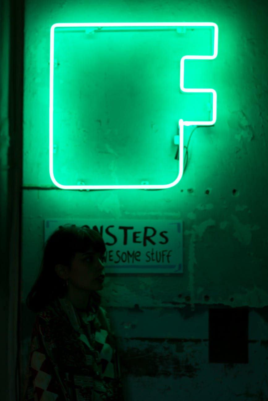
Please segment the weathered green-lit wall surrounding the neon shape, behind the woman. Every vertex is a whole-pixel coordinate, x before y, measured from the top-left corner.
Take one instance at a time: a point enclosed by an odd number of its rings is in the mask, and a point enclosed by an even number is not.
[[[101,292],[103,304],[121,338],[126,399],[268,399],[266,14],[262,2],[248,1],[118,0],[94,4],[83,0],[26,1],[24,363],[34,318],[25,307],[25,299],[40,267],[44,219],[94,218],[117,222],[181,219],[184,224],[182,275],[175,279],[161,275],[107,277]],[[217,122],[214,127],[198,128],[193,133],[182,180],[172,188],[156,191],[87,192],[56,188],[48,168],[51,25],[56,22],[180,21],[215,22],[219,26],[218,57],[211,67],[211,79],[204,73],[202,81],[205,87],[217,91]],[[62,80],[66,79],[67,75],[63,74]],[[76,83],[82,86],[82,79],[77,77],[73,87]],[[126,100],[131,96],[130,91]],[[189,98],[187,101],[190,102]],[[73,139],[83,130],[81,116],[85,110],[80,108],[80,111],[81,115],[76,114],[70,120]],[[159,117],[151,138],[161,138],[167,115],[162,115],[162,120]],[[99,119],[99,114],[96,112],[94,117]],[[111,109],[106,117],[113,119]],[[67,120],[68,115],[64,118]],[[151,123],[155,123],[153,117]],[[112,128],[107,124],[101,130],[96,124],[96,133],[108,137],[112,132],[115,136],[116,124]],[[139,119],[135,121],[135,130],[140,130],[139,138],[144,138]],[[174,128],[171,138],[175,134]],[[186,134],[189,138],[190,130]],[[119,133],[118,144],[122,138]],[[114,141],[115,148],[118,144]],[[111,157],[113,151],[116,153],[115,148],[106,157]],[[150,141],[146,149],[150,150]],[[173,162],[175,153],[176,147],[170,144]],[[141,161],[143,164],[145,160]],[[108,170],[116,182],[120,169],[112,159]],[[249,308],[247,363],[209,360],[209,310],[225,307]]]

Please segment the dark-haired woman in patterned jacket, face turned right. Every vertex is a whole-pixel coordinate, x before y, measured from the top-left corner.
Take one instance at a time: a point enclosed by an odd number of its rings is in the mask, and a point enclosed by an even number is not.
[[[123,401],[116,338],[97,293],[105,251],[87,226],[61,226],[47,239],[27,296],[37,315],[23,401]]]

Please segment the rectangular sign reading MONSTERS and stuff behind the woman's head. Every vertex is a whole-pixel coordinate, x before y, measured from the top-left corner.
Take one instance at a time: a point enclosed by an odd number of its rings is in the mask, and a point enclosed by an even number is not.
[[[46,219],[45,241],[65,224],[88,226],[106,245],[105,273],[182,273],[182,221]]]

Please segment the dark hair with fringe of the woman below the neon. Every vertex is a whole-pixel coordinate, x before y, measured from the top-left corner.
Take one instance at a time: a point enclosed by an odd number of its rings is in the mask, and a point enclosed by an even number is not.
[[[67,288],[64,280],[55,272],[55,265],[62,264],[70,268],[76,252],[86,252],[90,247],[96,252],[105,253],[105,243],[98,231],[86,225],[59,226],[45,243],[41,271],[27,296],[27,307],[39,312],[57,297],[63,298]],[[101,296],[96,291],[92,291],[91,296],[91,305],[98,310]]]

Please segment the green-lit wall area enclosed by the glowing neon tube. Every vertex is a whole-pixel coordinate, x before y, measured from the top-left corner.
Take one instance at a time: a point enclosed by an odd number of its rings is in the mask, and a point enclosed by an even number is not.
[[[218,28],[208,23],[53,27],[53,182],[63,189],[175,185],[178,121],[213,125],[217,111],[216,95],[180,91],[192,87],[192,76],[201,86],[194,90],[202,90],[203,76],[217,65],[186,60],[180,67],[180,60],[188,54],[216,57],[217,45]],[[183,127],[179,133],[183,150]],[[180,159],[181,177],[183,153]]]

